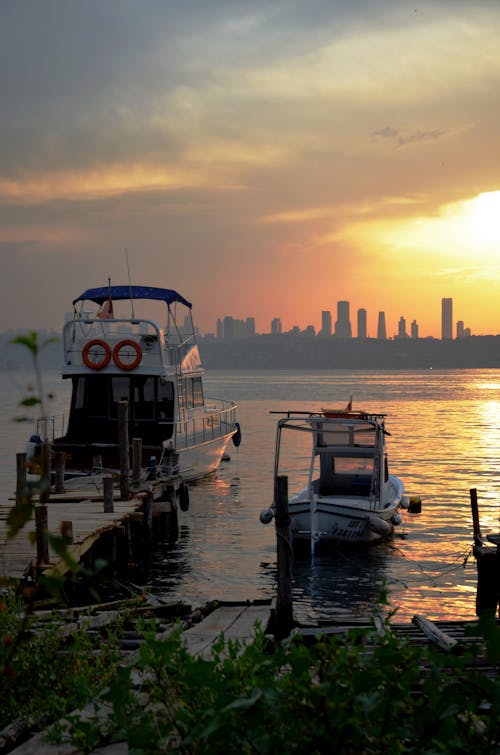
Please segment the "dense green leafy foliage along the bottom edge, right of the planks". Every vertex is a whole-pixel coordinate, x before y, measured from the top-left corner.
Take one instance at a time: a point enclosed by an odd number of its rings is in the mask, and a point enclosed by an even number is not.
[[[131,753],[270,755],[491,753],[499,732],[498,679],[393,636],[370,651],[359,634],[272,648],[262,633],[244,648],[221,637],[204,660],[180,631],[151,631],[135,670],[118,668],[93,714],[57,735],[84,752],[126,740]]]

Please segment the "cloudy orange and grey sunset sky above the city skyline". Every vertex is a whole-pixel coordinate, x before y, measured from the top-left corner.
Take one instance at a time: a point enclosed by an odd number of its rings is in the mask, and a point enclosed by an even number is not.
[[[202,333],[500,333],[500,3],[0,0],[0,328],[173,288]]]

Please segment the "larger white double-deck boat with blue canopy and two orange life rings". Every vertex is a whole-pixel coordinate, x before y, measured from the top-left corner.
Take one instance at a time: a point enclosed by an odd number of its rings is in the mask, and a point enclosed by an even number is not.
[[[138,314],[159,306],[163,327]],[[141,439],[142,466],[178,454],[183,480],[212,475],[241,435],[236,404],[205,398],[191,303],[171,289],[109,285],[88,289],[73,309],[63,329],[62,377],[73,384],[69,420],[52,441],[54,452],[66,453],[68,472],[120,469],[125,400],[129,441]]]

